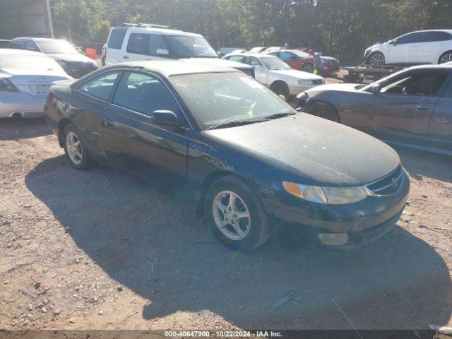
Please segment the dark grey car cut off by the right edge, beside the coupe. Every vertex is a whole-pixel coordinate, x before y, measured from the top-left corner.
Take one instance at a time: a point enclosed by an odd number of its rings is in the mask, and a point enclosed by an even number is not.
[[[370,85],[321,85],[297,96],[305,112],[396,145],[452,155],[452,65],[415,66]]]

